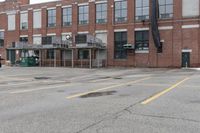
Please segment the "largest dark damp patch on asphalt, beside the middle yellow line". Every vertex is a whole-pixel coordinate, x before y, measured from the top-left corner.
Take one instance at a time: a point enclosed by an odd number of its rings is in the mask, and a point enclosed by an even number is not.
[[[93,93],[88,93],[86,95],[80,96],[80,98],[108,96],[108,95],[113,95],[116,92],[117,91],[93,92]]]

